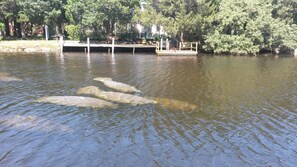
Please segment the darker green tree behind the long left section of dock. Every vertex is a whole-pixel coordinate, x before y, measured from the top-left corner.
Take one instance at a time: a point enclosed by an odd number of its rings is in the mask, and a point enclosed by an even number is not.
[[[82,35],[112,35],[115,24],[121,26],[130,22],[138,0],[69,0],[66,17],[70,24],[79,26]]]

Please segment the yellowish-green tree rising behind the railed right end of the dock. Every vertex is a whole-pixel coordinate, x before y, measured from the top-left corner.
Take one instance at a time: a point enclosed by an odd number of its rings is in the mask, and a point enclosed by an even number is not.
[[[148,0],[133,20],[145,26],[163,26],[169,37],[203,42],[219,0]]]

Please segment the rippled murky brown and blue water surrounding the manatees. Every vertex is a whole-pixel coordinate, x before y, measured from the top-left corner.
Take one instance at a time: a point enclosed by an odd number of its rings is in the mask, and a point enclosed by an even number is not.
[[[297,59],[0,54],[0,166],[295,166]],[[195,104],[92,109],[35,103],[110,91],[94,77],[145,97]]]

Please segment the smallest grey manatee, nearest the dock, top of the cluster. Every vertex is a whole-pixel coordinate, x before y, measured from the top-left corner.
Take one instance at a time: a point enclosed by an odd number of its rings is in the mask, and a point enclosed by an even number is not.
[[[141,92],[140,90],[137,90],[133,86],[127,85],[125,83],[113,81],[111,78],[98,77],[98,78],[94,78],[94,80],[100,81],[105,86],[115,89],[117,91],[123,92],[123,93],[140,93]]]

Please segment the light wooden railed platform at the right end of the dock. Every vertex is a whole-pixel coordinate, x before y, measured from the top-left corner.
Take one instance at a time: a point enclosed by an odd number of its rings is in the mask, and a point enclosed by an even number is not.
[[[169,49],[168,44],[164,50],[163,43],[157,43],[156,53],[158,56],[197,56],[198,42],[180,42],[179,48]]]

